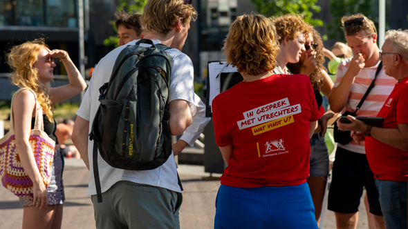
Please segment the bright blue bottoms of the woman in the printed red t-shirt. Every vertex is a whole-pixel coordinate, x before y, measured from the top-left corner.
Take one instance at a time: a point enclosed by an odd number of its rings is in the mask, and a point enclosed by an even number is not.
[[[318,229],[308,184],[236,188],[221,185],[215,201],[214,229]]]

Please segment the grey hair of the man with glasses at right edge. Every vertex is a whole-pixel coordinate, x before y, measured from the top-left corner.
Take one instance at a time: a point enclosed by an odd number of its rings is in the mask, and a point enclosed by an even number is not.
[[[393,52],[398,52],[402,59],[408,60],[408,30],[388,30],[384,39],[391,41]]]

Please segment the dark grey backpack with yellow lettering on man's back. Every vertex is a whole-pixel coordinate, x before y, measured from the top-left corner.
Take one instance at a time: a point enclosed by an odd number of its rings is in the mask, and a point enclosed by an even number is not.
[[[167,49],[148,39],[127,46],[118,55],[109,82],[99,89],[100,106],[89,134],[98,202],[102,202],[98,150],[106,163],[124,170],[152,170],[171,155],[167,100],[173,62]]]

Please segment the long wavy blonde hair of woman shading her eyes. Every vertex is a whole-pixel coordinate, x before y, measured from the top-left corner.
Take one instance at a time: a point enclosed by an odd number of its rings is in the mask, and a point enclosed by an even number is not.
[[[10,48],[6,54],[7,63],[12,68],[12,83],[20,88],[30,88],[37,95],[37,101],[47,115],[48,120],[53,122],[51,101],[48,96],[49,85],[42,86],[38,83],[38,70],[33,68],[38,59],[41,48],[48,48],[44,39],[26,41],[18,46]]]

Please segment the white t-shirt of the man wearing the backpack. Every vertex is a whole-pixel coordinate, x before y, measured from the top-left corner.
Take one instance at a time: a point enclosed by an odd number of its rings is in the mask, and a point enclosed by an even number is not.
[[[127,45],[135,45],[138,40],[131,41]],[[157,40],[153,42],[160,43]],[[140,44],[140,46],[149,47],[149,44]],[[93,77],[89,83],[89,87],[84,94],[80,108],[77,110],[77,115],[89,121],[89,132],[91,132],[93,118],[98,110],[100,102],[99,88],[111,77],[111,72],[118,54],[127,46],[115,48],[104,58],[100,60],[98,66],[93,71]],[[194,116],[196,106],[194,103],[194,69],[191,59],[177,49],[171,48],[166,50],[172,60],[173,68],[171,69],[170,86],[169,86],[169,102],[175,99],[183,99],[189,103],[189,108]],[[88,141],[88,157],[89,157],[89,188],[88,195],[96,195],[95,180],[93,178],[93,141]],[[108,163],[100,157],[98,153],[98,166],[102,192],[105,192],[113,184],[118,181],[132,181],[135,183],[143,183],[151,186],[167,188],[175,192],[181,192],[178,186],[177,165],[174,161],[174,155],[171,153],[169,159],[160,167],[154,170],[122,170],[109,166]]]

